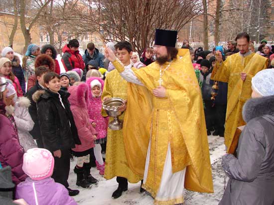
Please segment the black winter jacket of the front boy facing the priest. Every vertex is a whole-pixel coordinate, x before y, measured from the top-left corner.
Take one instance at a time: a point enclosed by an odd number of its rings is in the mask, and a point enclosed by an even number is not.
[[[69,93],[59,91],[59,95],[50,90],[38,90],[32,98],[37,103],[37,114],[44,147],[53,152],[58,149],[74,148],[81,144],[77,128],[70,110]]]

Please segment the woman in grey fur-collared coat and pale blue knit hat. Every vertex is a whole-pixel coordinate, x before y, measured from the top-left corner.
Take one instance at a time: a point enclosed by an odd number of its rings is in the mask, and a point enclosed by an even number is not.
[[[252,78],[252,99],[243,108],[247,123],[238,143],[237,157],[223,156],[230,178],[219,205],[274,204],[274,69]]]

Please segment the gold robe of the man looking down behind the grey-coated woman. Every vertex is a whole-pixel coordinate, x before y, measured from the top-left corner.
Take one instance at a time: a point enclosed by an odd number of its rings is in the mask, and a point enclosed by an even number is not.
[[[225,124],[225,144],[227,150],[233,141],[237,127],[246,125],[242,117],[243,106],[251,98],[251,79],[259,72],[267,68],[268,60],[258,54],[250,54],[242,57],[239,53],[229,56],[220,65],[216,63],[211,79],[228,82],[227,114]],[[241,79],[241,72],[247,73],[245,81]]]

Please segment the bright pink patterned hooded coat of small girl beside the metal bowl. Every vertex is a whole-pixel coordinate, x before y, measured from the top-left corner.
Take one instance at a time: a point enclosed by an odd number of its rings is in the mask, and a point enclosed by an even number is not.
[[[102,100],[101,95],[100,97],[93,97],[91,91],[91,82],[97,79],[101,83],[101,94],[104,88],[104,80],[99,77],[90,77],[87,79],[87,84],[90,87],[90,105],[89,105],[89,116],[92,121],[96,123],[96,131],[98,132],[97,139],[107,137],[107,130],[108,130],[108,123],[109,118],[104,118],[101,115],[102,111]]]

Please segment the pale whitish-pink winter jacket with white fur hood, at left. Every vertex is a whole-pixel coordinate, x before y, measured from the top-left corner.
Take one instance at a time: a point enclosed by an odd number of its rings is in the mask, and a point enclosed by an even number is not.
[[[6,107],[7,112],[14,117],[18,130],[19,142],[25,151],[37,147],[33,137],[29,134],[29,131],[31,131],[34,126],[34,122],[28,112],[29,106],[30,100],[27,97],[19,97],[15,102],[14,107]]]

